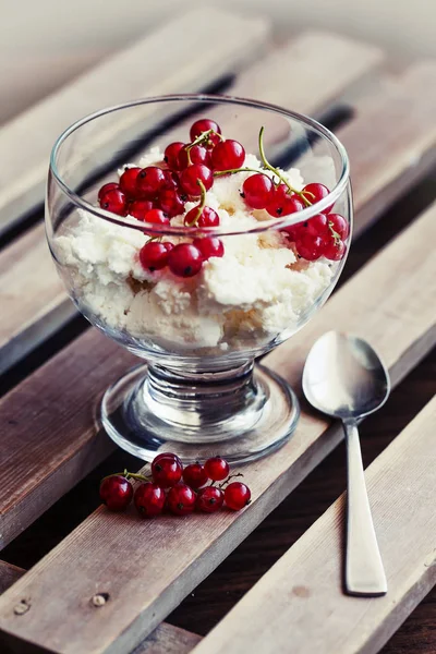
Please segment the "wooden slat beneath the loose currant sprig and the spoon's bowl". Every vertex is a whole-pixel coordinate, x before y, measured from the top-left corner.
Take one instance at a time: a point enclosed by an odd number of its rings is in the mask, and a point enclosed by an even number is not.
[[[326,329],[339,328],[367,338],[380,352],[393,385],[397,384],[436,339],[434,304],[428,301],[436,293],[435,218],[436,205],[372,259],[302,332],[269,354],[265,363],[298,383],[314,339]],[[95,342],[98,338],[94,336]],[[70,347],[70,356],[73,348],[78,348],[76,359],[80,359],[81,341]],[[104,366],[93,352],[82,363],[85,377],[87,366],[89,370],[97,363]],[[68,360],[65,366],[63,375],[69,379]],[[56,376],[61,385],[56,360],[46,366],[46,374]],[[32,379],[25,385],[29,387]],[[77,409],[69,401],[70,384],[58,392],[64,396],[65,415],[59,423],[64,424]],[[47,402],[51,409],[53,398],[47,398]],[[4,402],[0,414],[3,410]],[[22,432],[15,429],[16,440]],[[65,440],[66,436],[65,428]],[[133,509],[125,516],[114,516],[100,507],[3,595],[0,627],[4,632],[65,654],[130,651],[140,637],[152,631],[255,529],[340,438],[336,425],[328,428],[322,417],[303,413],[296,434],[279,452],[245,467],[253,502],[241,514],[222,512],[214,520],[191,516],[178,521],[162,517],[146,522],[135,517]],[[70,456],[73,456],[71,449]],[[22,467],[25,469],[25,461]],[[7,484],[0,484],[0,488],[4,487]],[[60,574],[62,588],[53,582]],[[88,603],[96,590],[111,595],[105,613],[98,616]],[[23,596],[32,596],[32,611],[17,620],[11,607]],[[82,625],[80,633],[75,628],[77,622]]]

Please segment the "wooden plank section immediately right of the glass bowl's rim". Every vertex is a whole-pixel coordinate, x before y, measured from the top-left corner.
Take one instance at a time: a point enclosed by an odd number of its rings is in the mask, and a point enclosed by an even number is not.
[[[436,162],[436,63],[417,63],[356,104],[354,120],[338,131],[351,161],[358,214],[366,229]]]

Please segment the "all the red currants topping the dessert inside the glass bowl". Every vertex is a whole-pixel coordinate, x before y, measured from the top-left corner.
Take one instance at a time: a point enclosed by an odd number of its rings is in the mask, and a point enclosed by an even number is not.
[[[251,171],[241,195],[252,209],[266,209],[274,218],[289,216],[315,204],[329,194],[324,184],[312,183],[302,191],[293,189],[280,170],[266,158],[263,144],[264,128],[259,132],[259,152],[263,168],[272,175],[243,167],[245,149],[231,138],[223,138],[220,126],[213,120],[201,119],[190,130],[190,143],[170,143],[165,149],[162,166],[126,168],[119,183],[108,183],[98,193],[100,207],[118,214],[131,215],[138,220],[166,227],[171,218],[185,211],[187,201],[198,204],[184,216],[185,227],[219,227],[219,216],[206,206],[206,193],[214,178]],[[314,261],[320,256],[342,258],[348,237],[348,223],[332,207],[311,220],[286,228],[296,253]],[[146,233],[146,232],[145,232]],[[168,268],[178,277],[193,277],[213,256],[225,254],[222,241],[216,237],[195,238],[192,242],[174,245],[150,235],[140,252],[143,267],[152,272]]]

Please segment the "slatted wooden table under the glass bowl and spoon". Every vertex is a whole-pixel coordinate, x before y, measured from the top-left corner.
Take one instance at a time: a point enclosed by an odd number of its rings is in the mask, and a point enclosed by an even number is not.
[[[436,583],[436,65],[392,71],[377,48],[324,33],[277,50],[267,21],[230,19],[196,12],[205,58],[190,38],[174,39],[189,35],[192,16],[174,19],[0,130],[5,651],[436,652],[435,593],[412,613]],[[227,38],[209,51],[214,28]],[[179,48],[178,75],[166,61],[138,75],[132,62],[162,39]],[[118,85],[105,83],[113,78]],[[332,325],[359,330],[384,356],[396,388],[362,439],[386,598],[341,592],[341,434],[304,404],[292,443],[245,467],[254,501],[241,516],[191,517],[171,534],[166,519],[98,508],[98,480],[141,465],[114,452],[93,420],[95,398],[132,358],[85,328],[56,277],[40,222],[48,152],[63,126],[100,106],[210,85],[324,117],[349,152],[356,229],[340,288],[265,363],[299,387],[308,348]],[[16,581],[23,571],[10,564],[34,567]]]

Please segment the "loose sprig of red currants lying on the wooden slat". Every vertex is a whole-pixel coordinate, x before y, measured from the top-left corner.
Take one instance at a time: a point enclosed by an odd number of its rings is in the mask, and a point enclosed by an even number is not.
[[[213,457],[204,465],[197,462],[183,469],[179,457],[165,452],[152,463],[153,481],[128,471],[111,474],[100,484],[100,499],[111,511],[122,511],[133,498],[144,518],[159,516],[165,508],[174,516],[186,516],[194,509],[215,513],[223,504],[240,511],[250,504],[251,491],[241,482],[230,482],[241,473],[229,473],[230,467],[221,457]],[[135,491],[130,479],[142,482]],[[211,483],[206,486],[209,481]]]

